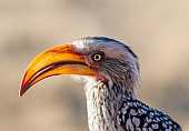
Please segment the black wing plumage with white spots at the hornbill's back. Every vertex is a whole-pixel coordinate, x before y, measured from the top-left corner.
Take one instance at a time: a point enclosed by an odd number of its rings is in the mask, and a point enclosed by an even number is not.
[[[117,121],[127,131],[181,131],[167,114],[131,97],[122,98]]]

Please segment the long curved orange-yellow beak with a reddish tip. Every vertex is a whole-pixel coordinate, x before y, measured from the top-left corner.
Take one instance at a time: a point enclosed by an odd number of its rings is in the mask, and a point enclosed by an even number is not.
[[[20,88],[20,97],[38,81],[59,74],[94,75],[84,56],[73,44],[62,44],[40,53],[28,67]]]

